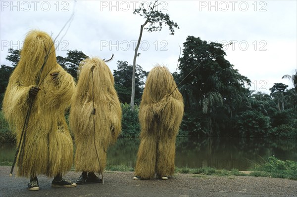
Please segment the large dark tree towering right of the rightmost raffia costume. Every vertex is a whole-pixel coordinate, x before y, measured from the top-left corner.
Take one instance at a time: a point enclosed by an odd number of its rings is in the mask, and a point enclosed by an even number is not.
[[[230,130],[233,117],[247,99],[245,85],[250,80],[233,69],[225,55],[222,44],[188,36],[179,59],[180,74],[174,74],[181,81],[186,114],[197,112],[201,132],[207,130],[208,135]],[[204,114],[199,113],[202,111]]]

